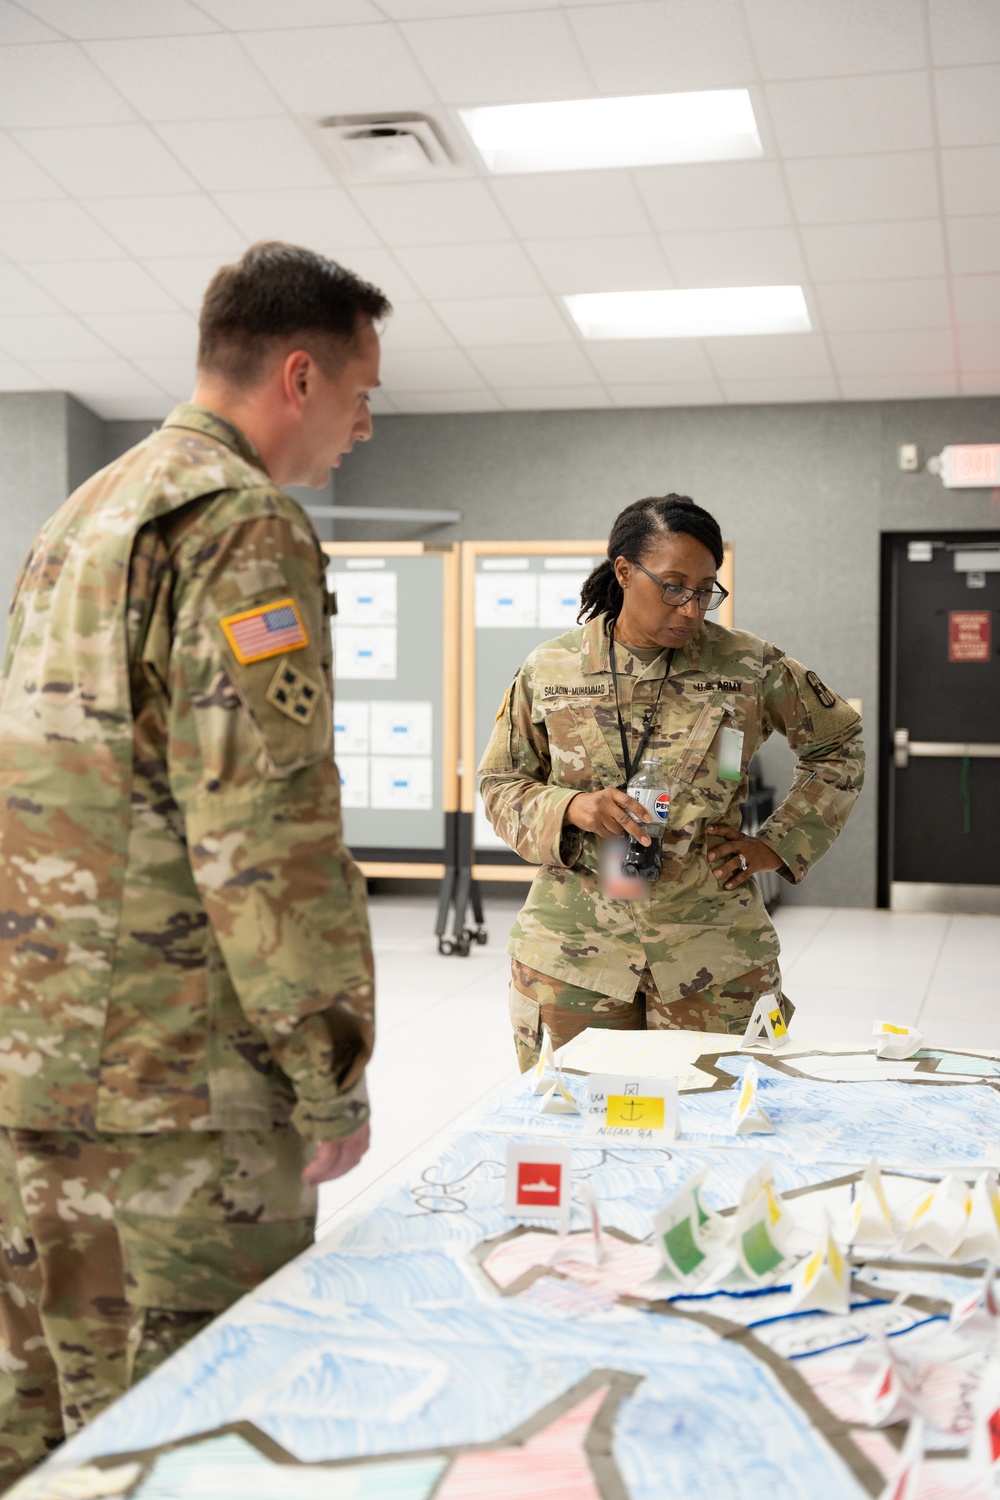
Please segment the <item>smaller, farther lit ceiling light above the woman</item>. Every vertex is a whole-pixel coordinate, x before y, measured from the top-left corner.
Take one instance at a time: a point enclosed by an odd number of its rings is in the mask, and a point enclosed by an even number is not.
[[[711,339],[813,328],[801,286],[594,291],[562,300],[585,339]]]

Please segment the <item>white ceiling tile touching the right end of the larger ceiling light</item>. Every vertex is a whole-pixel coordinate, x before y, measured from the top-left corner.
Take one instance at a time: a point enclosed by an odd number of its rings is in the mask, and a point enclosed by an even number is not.
[[[768,99],[787,158],[918,152],[934,144],[925,74],[768,84]]]

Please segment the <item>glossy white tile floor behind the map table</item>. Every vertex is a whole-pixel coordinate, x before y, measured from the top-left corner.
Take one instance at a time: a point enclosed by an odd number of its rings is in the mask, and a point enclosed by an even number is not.
[[[433,1155],[439,1137],[513,1076],[505,945],[516,909],[516,900],[489,902],[489,945],[442,958],[433,897],[373,897],[372,1149],[322,1188],[319,1234]],[[796,1036],[864,1044],[879,1016],[921,1024],[931,1044],[1000,1050],[1000,916],[784,906],[775,926]]]

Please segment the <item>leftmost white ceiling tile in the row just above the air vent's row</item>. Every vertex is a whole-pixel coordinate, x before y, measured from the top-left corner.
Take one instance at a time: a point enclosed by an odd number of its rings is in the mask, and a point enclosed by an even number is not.
[[[121,94],[73,42],[0,48],[0,126],[133,120]]]

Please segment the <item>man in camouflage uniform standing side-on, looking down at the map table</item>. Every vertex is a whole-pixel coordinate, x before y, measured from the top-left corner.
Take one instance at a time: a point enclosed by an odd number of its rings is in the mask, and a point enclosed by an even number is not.
[[[0,1490],[312,1242],[367,1149],[324,554],[387,298],[256,244],[22,568],[0,681]],[[309,1164],[306,1164],[309,1162]]]

